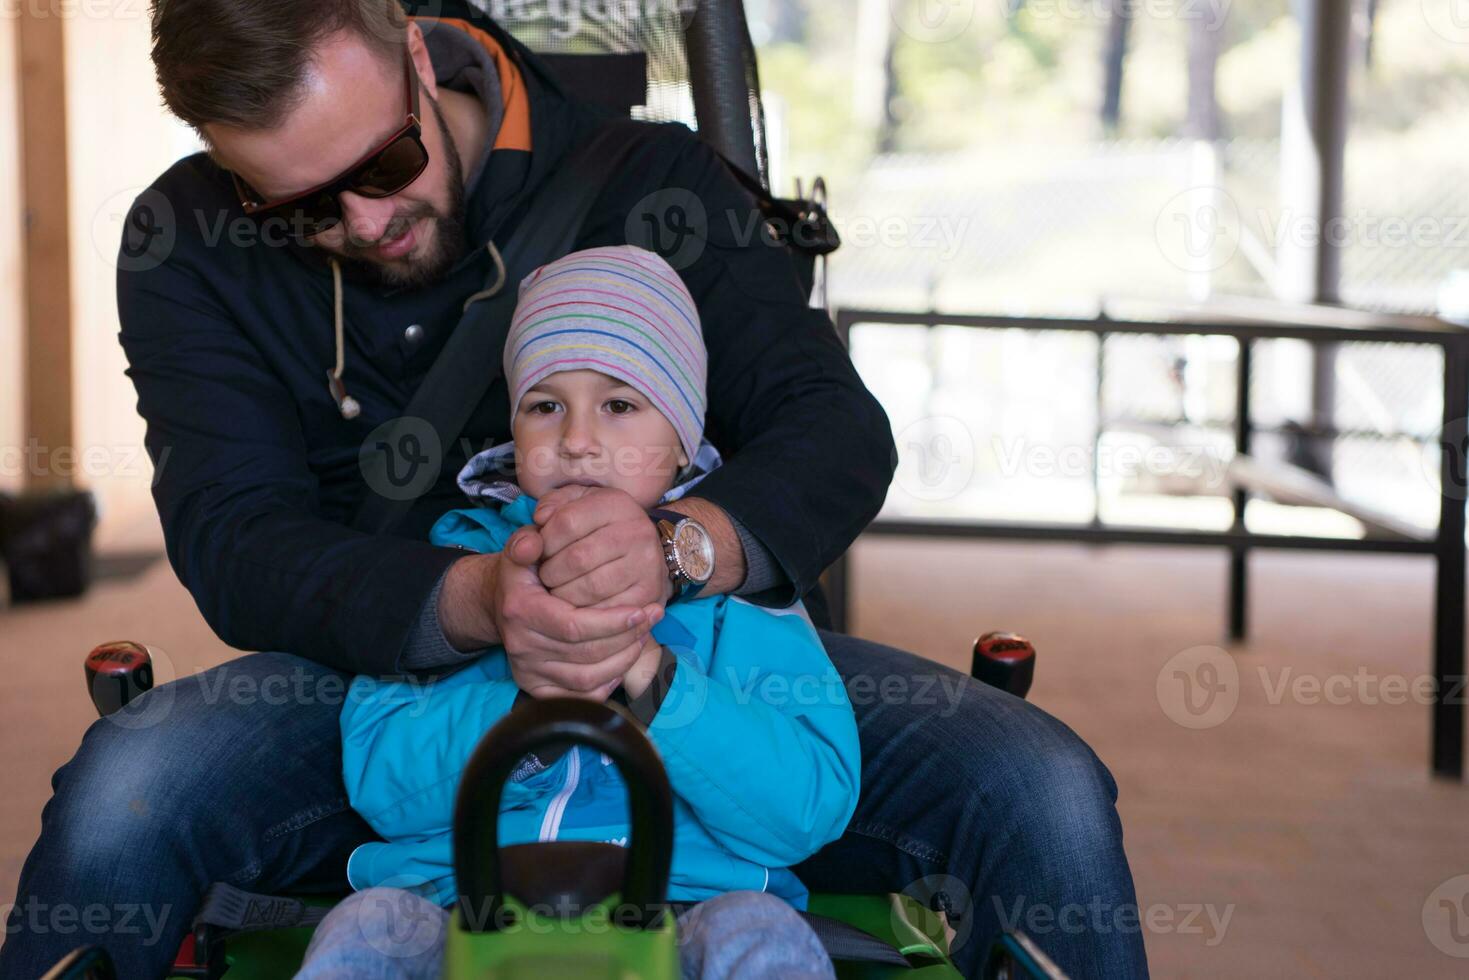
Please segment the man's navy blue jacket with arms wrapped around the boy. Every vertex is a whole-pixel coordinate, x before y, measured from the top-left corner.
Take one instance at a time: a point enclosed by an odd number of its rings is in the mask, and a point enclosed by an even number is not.
[[[427,544],[427,529],[458,504],[454,475],[464,460],[510,438],[502,379],[394,536],[348,525],[366,492],[358,450],[401,414],[466,297],[483,287],[485,242],[505,244],[527,192],[604,119],[569,101],[524,47],[494,34],[523,75],[533,151],[491,154],[467,190],[470,250],[445,279],[416,289],[348,279],[357,419],[345,420],[326,388],[332,276],[319,251],[251,239],[229,175],[204,154],[173,165],[126,219],[120,338],[157,466],[169,560],[234,646],[394,673],[426,598],[463,554]],[[663,188],[692,191],[710,219],[698,260],[680,269],[710,350],[707,438],[727,460],[699,497],[742,522],[786,573],[780,594],[752,598],[790,601],[881,505],[895,460],[887,417],[827,316],[808,309],[789,254],[748,239],[751,195],[686,128],[646,126],[576,247],[626,242],[629,213]],[[140,239],[140,229],[162,234]]]

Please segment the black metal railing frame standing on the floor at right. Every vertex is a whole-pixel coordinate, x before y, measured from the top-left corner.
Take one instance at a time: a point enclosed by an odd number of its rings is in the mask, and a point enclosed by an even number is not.
[[[1346,320],[1346,317],[1343,317]],[[1293,535],[1257,535],[1244,526],[1247,492],[1234,492],[1234,526],[1224,532],[1172,530],[1162,527],[1133,527],[1105,525],[1093,519],[1090,525],[1046,525],[980,520],[890,520],[877,519],[867,529],[870,535],[911,535],[940,538],[992,538],[1012,541],[1069,541],[1081,544],[1140,544],[1222,547],[1230,554],[1228,620],[1235,639],[1244,636],[1249,623],[1247,561],[1252,550],[1340,551],[1366,554],[1429,555],[1435,560],[1434,604],[1434,677],[1437,680],[1432,714],[1431,764],[1437,776],[1463,779],[1463,674],[1465,674],[1465,480],[1460,466],[1466,460],[1465,414],[1469,411],[1469,331],[1429,317],[1375,317],[1371,325],[1331,323],[1331,316],[1319,317],[1169,317],[1168,320],[1116,320],[1109,317],[1047,319],[1006,317],[942,313],[895,313],[878,310],[837,310],[836,328],[842,342],[849,342],[851,331],[859,323],[908,326],[961,326],[975,329],[1075,331],[1094,334],[1100,350],[1114,334],[1136,335],[1203,335],[1232,336],[1240,344],[1237,361],[1237,404],[1234,441],[1240,453],[1250,451],[1250,376],[1253,342],[1259,339],[1300,339],[1312,344],[1381,342],[1428,344],[1444,353],[1444,413],[1440,433],[1443,500],[1438,530],[1431,539],[1388,538],[1318,538]],[[1100,379],[1099,379],[1100,391]],[[1099,417],[1099,422],[1103,422]],[[1321,432],[1327,438],[1335,430]],[[1457,494],[1454,491],[1459,491]],[[827,574],[831,595],[831,616],[839,630],[848,624],[848,592],[852,570],[843,557]]]

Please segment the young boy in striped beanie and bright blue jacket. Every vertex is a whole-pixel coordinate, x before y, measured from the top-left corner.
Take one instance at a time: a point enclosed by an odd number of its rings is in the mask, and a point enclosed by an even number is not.
[[[654,253],[595,248],[532,273],[504,363],[514,442],[464,467],[460,486],[477,505],[445,514],[436,544],[501,551],[535,523],[538,498],[571,483],[617,488],[655,510],[718,466],[702,441],[698,311]],[[502,479],[511,461],[514,482]],[[680,544],[696,551],[698,535]],[[806,890],[789,868],[840,836],[856,807],[852,707],[799,605],[767,610],[690,591],[668,602],[618,695],[658,748],[676,796],[668,898],[704,902],[680,917],[685,976],[831,976],[792,911]],[[348,879],[372,890],[322,923],[300,976],[436,976],[438,943],[422,930],[411,951],[389,942],[392,926],[364,904],[372,896],[400,920],[429,917],[442,929],[439,909],[457,898],[458,777],[485,732],[526,696],[504,651],[427,685],[353,683],[342,768],[353,807],[383,842],[353,852]],[[502,845],[624,842],[627,833],[621,777],[591,749],[527,757],[505,788]]]

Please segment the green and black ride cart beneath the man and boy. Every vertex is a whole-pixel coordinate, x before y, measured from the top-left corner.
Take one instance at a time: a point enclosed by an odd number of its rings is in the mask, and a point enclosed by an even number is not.
[[[971,673],[1024,696],[1036,652],[1012,633],[974,644]],[[106,716],[153,686],[141,644],[95,648],[87,685]],[[627,785],[627,846],[544,842],[501,848],[501,789],[516,764],[549,745],[586,745],[611,758]],[[616,704],[530,701],[492,727],[460,780],[454,813],[454,874],[460,901],[445,939],[448,980],[566,977],[654,980],[679,976],[677,907],[667,902],[673,858],[673,790],[657,749]],[[914,895],[814,893],[806,918],[836,964],[837,977],[959,977],[949,958],[945,899]],[[333,901],[267,896],[216,883],[179,946],[170,977],[276,980],[292,976],[311,930]],[[931,907],[930,907],[931,905]],[[1064,974],[1021,933],[993,940],[984,977],[1058,979]],[[46,980],[115,977],[107,954],[85,946]]]

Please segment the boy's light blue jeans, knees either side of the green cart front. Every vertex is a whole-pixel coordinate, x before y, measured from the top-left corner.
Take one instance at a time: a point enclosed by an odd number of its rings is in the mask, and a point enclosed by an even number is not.
[[[295,980],[438,980],[450,912],[392,887],[357,892],[316,927]],[[773,895],[730,892],[679,917],[685,980],[834,980],[821,940]]]

